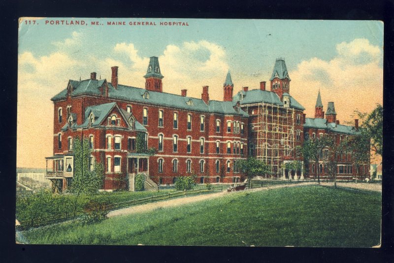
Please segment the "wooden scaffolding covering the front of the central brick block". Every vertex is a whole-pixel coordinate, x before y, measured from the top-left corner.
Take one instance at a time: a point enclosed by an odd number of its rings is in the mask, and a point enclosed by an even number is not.
[[[257,122],[252,130],[257,132],[256,158],[271,167],[271,174],[282,176],[283,161],[294,155],[296,122],[293,108],[261,102],[258,105]]]

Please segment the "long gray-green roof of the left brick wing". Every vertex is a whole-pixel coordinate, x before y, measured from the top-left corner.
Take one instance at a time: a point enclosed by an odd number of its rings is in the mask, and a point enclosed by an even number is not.
[[[111,83],[107,83],[106,80],[83,80],[83,81],[73,81],[70,80],[69,84],[72,85],[73,91],[71,96],[80,95],[80,94],[92,94],[92,95],[100,95],[99,88],[104,84],[108,85],[108,97],[110,99],[123,99],[130,102],[139,102],[139,103],[149,103],[159,106],[167,106],[176,109],[197,111],[197,112],[208,112],[208,113],[217,113],[217,114],[230,114],[230,115],[241,115],[244,117],[248,117],[248,114],[242,110],[239,113],[232,107],[235,105],[233,102],[226,101],[215,101],[210,100],[208,105],[202,99],[192,98],[192,97],[184,97],[181,95],[166,93],[166,92],[158,92],[146,90],[145,88],[135,88],[125,85],[118,84],[118,87],[115,89],[112,87]],[[149,98],[145,99],[143,97],[144,93],[149,93]],[[59,99],[65,99],[67,95],[67,90],[63,90],[62,92],[55,95],[51,100],[56,101]],[[212,104],[212,105],[211,105]],[[229,107],[229,105],[232,105]]]

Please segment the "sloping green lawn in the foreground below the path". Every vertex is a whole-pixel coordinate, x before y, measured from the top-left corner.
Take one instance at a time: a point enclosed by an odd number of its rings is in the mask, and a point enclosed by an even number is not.
[[[370,247],[380,218],[380,193],[300,186],[24,234],[36,244]]]

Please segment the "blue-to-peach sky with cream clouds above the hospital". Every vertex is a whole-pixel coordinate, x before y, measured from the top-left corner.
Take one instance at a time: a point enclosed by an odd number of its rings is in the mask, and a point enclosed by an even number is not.
[[[66,25],[76,21],[80,25]],[[228,70],[235,94],[242,87],[259,88],[261,81],[268,84],[275,59],[284,58],[290,94],[306,108],[307,117],[314,117],[319,89],[324,110],[328,101],[334,101],[341,123],[352,121],[356,109],[370,112],[376,103],[383,103],[380,21],[23,18],[19,22],[17,167],[45,168],[45,157],[53,154],[50,99],[66,88],[68,80],[89,79],[91,72],[97,72],[98,78],[110,82],[111,66],[119,66],[119,84],[144,88],[152,56],[159,57],[164,92],[180,94],[185,88],[188,96],[200,98],[202,87],[209,86],[209,98],[223,100]]]

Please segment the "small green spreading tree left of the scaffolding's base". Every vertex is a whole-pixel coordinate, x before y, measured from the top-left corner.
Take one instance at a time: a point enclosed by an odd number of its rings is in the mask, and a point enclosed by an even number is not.
[[[269,165],[254,157],[236,160],[234,162],[234,167],[238,168],[239,171],[241,171],[248,177],[249,187],[250,181],[253,177],[255,177],[256,175],[267,174],[271,171]]]

